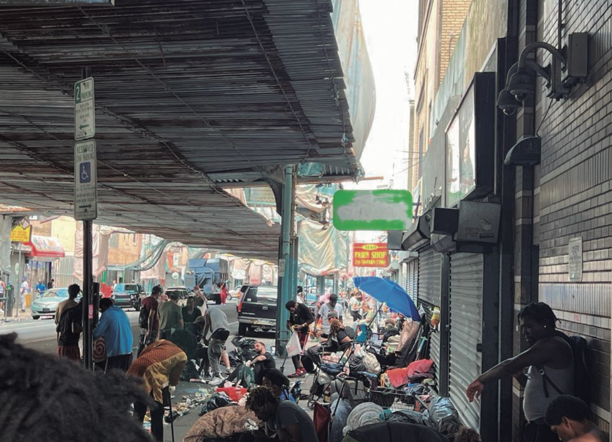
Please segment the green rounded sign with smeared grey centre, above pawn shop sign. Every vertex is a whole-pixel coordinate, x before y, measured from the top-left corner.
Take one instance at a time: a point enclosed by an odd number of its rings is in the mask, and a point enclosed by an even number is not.
[[[406,230],[412,224],[407,190],[338,190],[334,227],[338,230]]]

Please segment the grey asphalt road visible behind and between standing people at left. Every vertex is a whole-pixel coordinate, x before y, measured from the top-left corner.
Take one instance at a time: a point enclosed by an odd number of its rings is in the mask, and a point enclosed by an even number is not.
[[[208,304],[213,307],[214,303]],[[228,316],[231,333],[235,334],[238,331],[236,304],[229,303],[220,308]],[[134,348],[138,345],[138,312],[133,309],[126,309],[130,322],[132,323],[132,333],[134,335]],[[20,342],[25,347],[38,350],[43,353],[57,352],[57,337],[55,331],[55,323],[52,317],[42,317],[41,319],[21,319],[20,321],[0,322],[0,334],[17,333],[17,342]]]

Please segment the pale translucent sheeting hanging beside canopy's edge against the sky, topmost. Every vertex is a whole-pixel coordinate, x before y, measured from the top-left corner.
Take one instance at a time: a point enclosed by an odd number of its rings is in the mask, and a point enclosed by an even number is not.
[[[361,158],[368,138],[376,105],[374,73],[365,46],[358,0],[332,0],[332,21],[338,56],[346,83],[346,100],[353,125],[353,149],[357,160]]]

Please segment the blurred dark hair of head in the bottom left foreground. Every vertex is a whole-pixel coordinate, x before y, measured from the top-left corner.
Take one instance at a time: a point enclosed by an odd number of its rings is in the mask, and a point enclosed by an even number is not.
[[[1,441],[151,442],[128,414],[146,399],[141,380],[95,374],[16,339],[0,335]]]

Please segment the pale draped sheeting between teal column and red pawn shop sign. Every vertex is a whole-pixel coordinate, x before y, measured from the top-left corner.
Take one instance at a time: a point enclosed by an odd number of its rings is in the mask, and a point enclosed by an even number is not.
[[[346,269],[348,263],[348,232],[341,232],[327,224],[327,229],[316,221],[303,219],[297,223],[299,270],[323,276]]]

